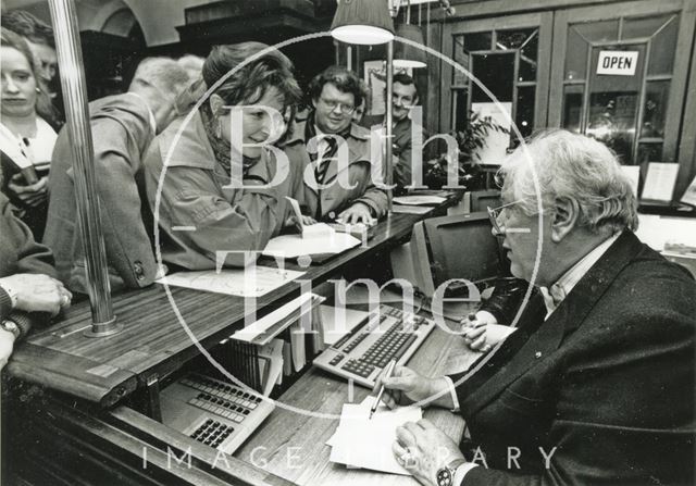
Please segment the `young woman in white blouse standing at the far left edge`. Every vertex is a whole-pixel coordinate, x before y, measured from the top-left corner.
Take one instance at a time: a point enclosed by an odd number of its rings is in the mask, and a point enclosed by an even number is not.
[[[4,27],[0,33],[2,191],[40,240],[48,209],[48,171],[58,135],[48,123],[52,120],[51,103],[38,82],[26,40]]]

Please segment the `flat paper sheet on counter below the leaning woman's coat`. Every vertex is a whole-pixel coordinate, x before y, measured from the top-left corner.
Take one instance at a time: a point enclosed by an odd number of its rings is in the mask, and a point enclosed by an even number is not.
[[[304,272],[293,270],[256,266],[256,275],[251,278],[249,272],[249,269],[223,269],[220,273],[214,270],[177,272],[156,282],[174,287],[194,288],[229,296],[261,297],[304,274]]]

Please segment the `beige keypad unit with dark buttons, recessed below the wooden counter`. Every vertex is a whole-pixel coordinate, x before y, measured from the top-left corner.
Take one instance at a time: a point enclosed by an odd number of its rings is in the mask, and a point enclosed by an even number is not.
[[[165,425],[227,454],[275,408],[256,392],[197,373],[166,387],[160,400]]]

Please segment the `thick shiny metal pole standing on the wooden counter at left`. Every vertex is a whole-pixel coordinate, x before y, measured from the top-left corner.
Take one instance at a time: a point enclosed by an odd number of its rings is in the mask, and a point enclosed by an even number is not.
[[[77,223],[87,267],[87,294],[91,304],[89,336],[109,336],[123,328],[116,324],[111,306],[107,252],[101,232],[99,198],[95,183],[94,146],[89,110],[85,96],[85,71],[74,0],[49,0],[61,87],[65,101],[73,171],[75,175]]]

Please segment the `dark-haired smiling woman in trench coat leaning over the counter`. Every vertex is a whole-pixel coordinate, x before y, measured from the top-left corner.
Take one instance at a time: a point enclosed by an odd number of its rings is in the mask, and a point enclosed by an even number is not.
[[[241,266],[282,228],[301,173],[272,146],[300,89],[291,62],[259,42],[216,46],[175,120],[145,157],[162,259],[187,270]],[[201,101],[198,101],[201,100]],[[198,107],[196,109],[196,107]]]

